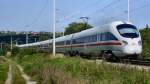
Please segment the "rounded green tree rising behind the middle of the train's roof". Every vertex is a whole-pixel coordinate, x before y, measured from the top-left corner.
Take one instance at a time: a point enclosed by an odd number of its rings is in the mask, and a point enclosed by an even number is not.
[[[76,33],[76,32],[80,32],[80,31],[83,31],[83,30],[86,30],[86,29],[89,29],[89,28],[92,28],[92,26],[87,24],[87,23],[72,22],[71,24],[69,24],[68,27],[66,27],[65,35]]]

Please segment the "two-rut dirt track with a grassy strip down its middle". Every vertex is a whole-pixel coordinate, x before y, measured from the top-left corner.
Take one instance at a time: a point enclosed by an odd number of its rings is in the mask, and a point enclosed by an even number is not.
[[[15,61],[9,59],[8,57],[1,58],[6,60],[9,64],[9,71],[5,84],[36,84],[36,81],[32,81],[30,76],[28,76],[24,72],[23,68]]]

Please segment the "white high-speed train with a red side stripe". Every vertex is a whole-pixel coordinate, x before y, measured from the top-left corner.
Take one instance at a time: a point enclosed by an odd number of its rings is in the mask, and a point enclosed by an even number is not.
[[[20,48],[40,47],[52,50],[53,40],[18,45]],[[133,58],[141,57],[142,41],[139,30],[130,22],[114,21],[56,38],[56,52],[88,57]]]

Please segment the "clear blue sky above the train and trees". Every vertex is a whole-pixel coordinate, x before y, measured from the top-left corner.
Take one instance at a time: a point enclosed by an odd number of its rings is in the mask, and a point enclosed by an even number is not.
[[[150,25],[150,1],[130,0],[130,21],[138,28]],[[89,24],[127,21],[127,0],[56,0],[56,31],[89,17]],[[53,0],[0,0],[0,31],[53,30]]]

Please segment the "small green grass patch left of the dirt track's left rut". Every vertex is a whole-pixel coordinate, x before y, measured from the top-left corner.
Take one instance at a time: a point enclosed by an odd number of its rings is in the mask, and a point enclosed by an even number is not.
[[[8,64],[0,64],[0,84],[4,84],[7,79]]]

